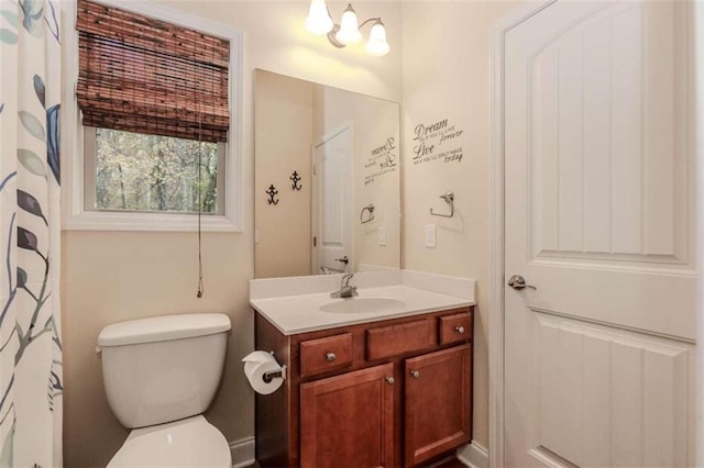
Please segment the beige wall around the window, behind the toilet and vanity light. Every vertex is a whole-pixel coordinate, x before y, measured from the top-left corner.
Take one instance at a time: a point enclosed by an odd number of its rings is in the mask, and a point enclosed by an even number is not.
[[[381,15],[392,52],[383,59],[363,47],[338,51],[301,26],[307,1],[162,1],[168,7],[244,31],[244,232],[204,236],[205,297],[196,299],[195,233],[64,232],[62,309],[65,372],[65,465],[105,466],[127,431],[105,399],[96,339],[112,322],[142,316],[216,312],[233,331],[219,394],[208,419],[228,438],[254,434],[254,395],[240,359],[253,348],[248,280],[253,276],[253,70],[263,68],[391,100],[400,100],[400,5],[362,2],[360,18]],[[343,3],[330,3],[339,18]],[[64,131],[69,129],[64,127]],[[65,153],[64,158],[70,154]],[[65,186],[65,183],[64,183]]]

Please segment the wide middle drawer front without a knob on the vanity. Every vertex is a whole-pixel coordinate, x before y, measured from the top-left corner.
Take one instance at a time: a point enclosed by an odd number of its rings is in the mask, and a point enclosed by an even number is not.
[[[436,335],[435,320],[419,320],[367,330],[366,359],[375,360],[435,346]]]

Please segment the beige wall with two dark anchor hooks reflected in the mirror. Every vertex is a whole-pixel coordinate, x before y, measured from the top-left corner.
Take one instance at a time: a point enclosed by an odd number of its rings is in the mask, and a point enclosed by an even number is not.
[[[314,83],[256,70],[254,85],[254,275],[310,275],[310,147]],[[289,179],[296,171],[300,190]],[[270,203],[266,190],[278,194]]]

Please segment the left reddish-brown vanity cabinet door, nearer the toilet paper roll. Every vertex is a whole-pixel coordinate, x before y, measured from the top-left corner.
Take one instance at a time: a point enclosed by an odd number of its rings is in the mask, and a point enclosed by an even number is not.
[[[300,466],[391,467],[393,376],[386,364],[301,383]]]

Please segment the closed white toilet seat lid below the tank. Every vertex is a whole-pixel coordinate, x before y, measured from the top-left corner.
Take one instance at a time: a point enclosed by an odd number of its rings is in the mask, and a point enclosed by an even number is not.
[[[108,468],[218,467],[231,468],[224,436],[201,415],[130,433]]]

